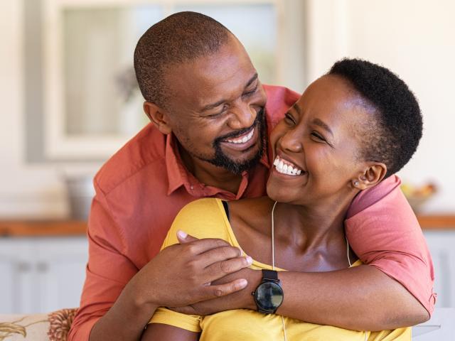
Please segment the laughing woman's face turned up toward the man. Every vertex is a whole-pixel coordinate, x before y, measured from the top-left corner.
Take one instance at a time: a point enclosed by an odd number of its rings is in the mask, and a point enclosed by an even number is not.
[[[357,193],[352,183],[367,166],[358,158],[361,129],[371,120],[362,103],[338,76],[325,75],[306,89],[272,131],[269,197],[308,205]]]

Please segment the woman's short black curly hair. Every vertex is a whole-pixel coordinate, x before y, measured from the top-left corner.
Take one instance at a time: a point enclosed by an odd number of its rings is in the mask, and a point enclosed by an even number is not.
[[[336,62],[328,75],[347,80],[373,109],[373,121],[365,122],[361,157],[385,163],[386,178],[400,171],[422,137],[422,113],[409,87],[387,68],[359,59]]]

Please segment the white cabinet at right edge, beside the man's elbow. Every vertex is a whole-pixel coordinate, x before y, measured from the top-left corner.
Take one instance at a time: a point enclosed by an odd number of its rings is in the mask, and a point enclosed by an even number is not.
[[[434,291],[439,308],[455,308],[455,230],[424,231],[434,264]]]

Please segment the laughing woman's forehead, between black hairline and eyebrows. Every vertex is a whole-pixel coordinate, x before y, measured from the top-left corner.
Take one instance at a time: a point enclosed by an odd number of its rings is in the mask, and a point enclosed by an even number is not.
[[[336,75],[324,75],[311,83],[297,105],[308,118],[322,119],[333,127],[365,122],[371,109],[348,81]]]

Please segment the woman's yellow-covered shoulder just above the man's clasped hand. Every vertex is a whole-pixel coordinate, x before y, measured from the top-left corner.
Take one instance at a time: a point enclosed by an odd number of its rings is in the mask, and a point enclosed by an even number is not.
[[[228,225],[228,218],[220,199],[195,200],[178,212],[163,247],[178,243],[176,233],[179,229],[198,239],[220,238],[230,242]]]

